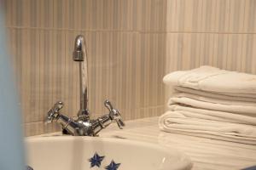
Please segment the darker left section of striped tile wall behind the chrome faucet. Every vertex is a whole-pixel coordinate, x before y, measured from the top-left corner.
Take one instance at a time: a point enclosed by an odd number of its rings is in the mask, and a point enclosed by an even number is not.
[[[26,135],[49,133],[49,108],[79,111],[73,41],[83,34],[89,60],[91,116],[110,99],[125,120],[164,111],[166,0],[6,0],[6,26]]]

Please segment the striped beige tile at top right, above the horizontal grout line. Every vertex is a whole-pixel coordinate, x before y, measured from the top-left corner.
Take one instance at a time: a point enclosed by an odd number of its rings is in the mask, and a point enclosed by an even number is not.
[[[255,0],[170,0],[166,30],[255,33],[255,11]]]

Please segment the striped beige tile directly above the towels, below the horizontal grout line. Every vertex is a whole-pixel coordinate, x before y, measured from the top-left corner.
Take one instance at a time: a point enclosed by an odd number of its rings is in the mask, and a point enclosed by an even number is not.
[[[253,73],[254,37],[252,34],[169,33],[166,72],[212,65]]]

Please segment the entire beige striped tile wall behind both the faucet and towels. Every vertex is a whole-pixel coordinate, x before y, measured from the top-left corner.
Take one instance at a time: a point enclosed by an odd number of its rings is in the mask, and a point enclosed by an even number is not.
[[[6,0],[27,135],[56,100],[79,110],[73,40],[88,46],[90,111],[110,99],[126,120],[158,116],[170,72],[213,65],[256,74],[256,0]],[[166,95],[167,97],[168,95]]]

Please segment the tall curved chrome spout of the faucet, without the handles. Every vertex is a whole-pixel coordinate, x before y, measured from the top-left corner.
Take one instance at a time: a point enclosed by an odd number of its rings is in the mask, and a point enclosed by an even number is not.
[[[85,38],[79,35],[75,38],[73,60],[79,62],[80,79],[80,110],[78,116],[89,116],[88,110],[88,60]]]

